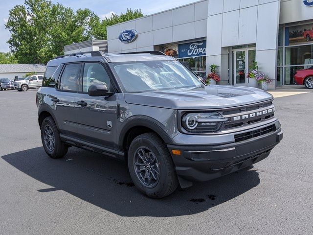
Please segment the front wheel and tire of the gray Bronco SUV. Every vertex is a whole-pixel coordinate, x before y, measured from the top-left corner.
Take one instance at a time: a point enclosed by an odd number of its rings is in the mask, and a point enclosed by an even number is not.
[[[144,160],[147,160],[146,163]],[[165,144],[155,133],[142,134],[132,141],[128,149],[128,169],[136,188],[151,198],[165,197],[178,186],[172,158]],[[142,174],[141,179],[139,174]],[[150,181],[145,178],[147,174],[150,175]]]

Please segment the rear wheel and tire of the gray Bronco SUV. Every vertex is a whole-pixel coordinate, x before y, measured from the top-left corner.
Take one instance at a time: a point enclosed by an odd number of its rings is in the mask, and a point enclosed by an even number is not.
[[[48,138],[47,141],[45,141],[46,138]],[[51,158],[62,158],[67,154],[68,146],[61,141],[58,128],[51,117],[45,118],[41,125],[41,140],[45,152]],[[53,140],[54,144],[50,144]]]

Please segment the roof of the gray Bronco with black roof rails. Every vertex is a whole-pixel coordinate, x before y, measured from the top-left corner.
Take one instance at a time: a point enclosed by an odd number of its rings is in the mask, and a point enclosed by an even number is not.
[[[161,52],[160,52],[161,53]],[[111,63],[111,62],[135,62],[135,61],[175,61],[176,59],[162,54],[151,54],[150,52],[140,52],[140,53],[131,53],[131,54],[102,54],[101,56],[92,56],[90,53],[86,52],[79,53],[76,55],[63,55],[56,57],[53,60],[50,60],[47,63],[47,67],[59,66],[64,63],[72,62],[85,62],[85,61],[98,61],[102,63]]]

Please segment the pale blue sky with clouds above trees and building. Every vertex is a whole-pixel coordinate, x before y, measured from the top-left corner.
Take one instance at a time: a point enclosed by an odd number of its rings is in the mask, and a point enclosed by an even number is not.
[[[76,10],[78,8],[89,8],[100,18],[110,16],[111,13],[120,14],[126,12],[127,8],[141,8],[144,15],[151,15],[160,11],[185,5],[197,0],[51,0],[59,2],[64,6]],[[10,38],[10,32],[5,29],[4,24],[9,18],[9,10],[15,5],[22,5],[24,0],[0,0],[0,52],[10,51],[6,43]]]

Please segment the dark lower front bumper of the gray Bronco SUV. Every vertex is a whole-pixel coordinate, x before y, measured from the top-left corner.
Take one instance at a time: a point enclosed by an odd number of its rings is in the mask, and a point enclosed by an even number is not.
[[[222,145],[182,146],[167,145],[176,166],[179,182],[207,181],[255,164],[266,157],[283,139],[279,127],[266,135],[246,141]],[[172,150],[180,150],[174,155]],[[187,183],[188,184],[188,183]]]

